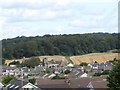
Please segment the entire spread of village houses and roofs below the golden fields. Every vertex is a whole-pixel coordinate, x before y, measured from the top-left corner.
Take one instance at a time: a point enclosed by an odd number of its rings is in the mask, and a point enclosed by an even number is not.
[[[42,73],[46,68],[51,68],[49,74]],[[5,89],[7,90],[44,90],[48,88],[100,88],[100,85],[103,85],[103,88],[107,88],[107,81],[104,77],[91,77],[91,75],[84,73],[89,71],[104,71],[111,70],[112,63],[93,63],[88,64],[87,66],[73,65],[69,62],[63,61],[44,61],[44,65],[40,64],[34,68],[28,67],[17,67],[16,65],[2,66],[2,75],[15,75],[16,77],[27,76],[29,73],[35,73],[34,77],[37,79],[36,84],[33,85],[28,82],[28,80],[23,81],[21,78],[18,78],[15,81],[7,84]],[[64,75],[65,80],[51,80],[52,77],[63,73],[65,70],[70,70],[70,74]],[[99,79],[100,78],[100,79]],[[44,83],[43,83],[44,82]],[[49,83],[48,83],[49,82]],[[60,83],[62,82],[62,83]],[[18,84],[17,84],[18,83]],[[21,84],[20,84],[21,83]],[[58,83],[58,84],[57,84]],[[102,84],[103,83],[103,84]],[[0,88],[4,85],[0,83]],[[97,87],[98,86],[98,87]]]

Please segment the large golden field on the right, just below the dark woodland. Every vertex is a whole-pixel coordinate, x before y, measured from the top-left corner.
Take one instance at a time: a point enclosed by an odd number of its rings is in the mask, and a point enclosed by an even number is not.
[[[86,55],[71,56],[70,59],[76,65],[79,65],[81,62],[92,63],[92,62],[106,62],[113,60],[118,57],[118,53],[91,53]]]

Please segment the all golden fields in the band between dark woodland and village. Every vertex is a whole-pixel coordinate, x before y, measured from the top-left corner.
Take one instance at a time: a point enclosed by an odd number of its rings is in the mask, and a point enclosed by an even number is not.
[[[66,56],[36,56],[42,60],[43,58],[47,58],[48,60],[63,60],[68,61],[68,57]],[[91,53],[79,56],[71,56],[69,59],[73,62],[73,64],[79,65],[81,62],[92,63],[92,62],[105,62],[109,60],[113,60],[114,58],[118,58],[118,53]],[[28,59],[28,58],[27,58]],[[14,60],[6,60],[5,63],[9,65],[9,63]],[[23,59],[16,59],[15,61],[19,61],[20,63]]]

